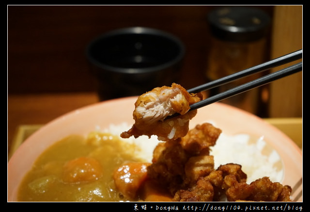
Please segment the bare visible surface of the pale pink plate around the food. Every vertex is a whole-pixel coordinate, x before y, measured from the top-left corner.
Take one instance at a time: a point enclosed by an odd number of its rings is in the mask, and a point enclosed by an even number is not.
[[[104,129],[110,124],[133,124],[132,112],[136,99],[137,97],[119,98],[83,107],[62,115],[32,134],[8,163],[8,201],[16,201],[21,180],[47,147],[70,134],[87,135],[98,126]],[[293,187],[302,178],[300,148],[263,119],[225,104],[214,103],[198,110],[198,114],[190,121],[190,129],[206,121],[216,123],[225,134],[264,136],[264,140],[278,152],[282,160],[284,175],[281,183]],[[293,194],[293,198],[296,195]],[[302,201],[302,196],[298,201]]]

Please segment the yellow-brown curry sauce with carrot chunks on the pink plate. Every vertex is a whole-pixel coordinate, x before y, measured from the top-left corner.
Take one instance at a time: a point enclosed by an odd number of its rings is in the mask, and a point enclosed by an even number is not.
[[[70,135],[35,161],[19,187],[18,201],[132,200],[116,188],[112,173],[126,163],[145,163],[135,156],[138,151],[109,133]]]

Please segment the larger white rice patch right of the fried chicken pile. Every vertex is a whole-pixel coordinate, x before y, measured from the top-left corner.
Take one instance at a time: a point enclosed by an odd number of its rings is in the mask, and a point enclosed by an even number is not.
[[[237,163],[242,165],[242,170],[248,175],[247,183],[262,177],[269,177],[272,182],[281,182],[283,168],[281,158],[276,150],[272,149],[268,155],[263,154],[267,143],[263,137],[256,142],[251,141],[248,134],[228,136],[221,134],[211,155],[214,155],[215,168],[221,164]],[[279,165],[280,164],[280,165]]]

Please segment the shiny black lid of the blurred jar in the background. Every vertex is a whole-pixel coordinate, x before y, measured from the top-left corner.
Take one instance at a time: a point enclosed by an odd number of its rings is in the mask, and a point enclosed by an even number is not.
[[[268,32],[270,16],[253,7],[220,7],[208,14],[211,32],[226,41],[254,41]]]

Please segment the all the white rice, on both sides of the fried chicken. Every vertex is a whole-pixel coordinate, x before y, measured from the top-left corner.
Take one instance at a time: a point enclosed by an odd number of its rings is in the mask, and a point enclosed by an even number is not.
[[[211,123],[209,121],[209,123]],[[120,135],[122,132],[131,128],[127,123],[120,125],[110,125],[108,129],[97,129],[103,132],[109,132],[113,135]],[[153,150],[161,141],[156,136],[140,136],[128,139],[120,139],[124,142],[136,144],[140,147],[137,156],[151,162]],[[238,163],[242,165],[242,170],[248,175],[247,182],[255,179],[269,177],[272,182],[281,182],[283,179],[283,168],[279,154],[276,150],[263,154],[263,149],[268,147],[263,137],[253,141],[253,137],[248,134],[226,135],[223,132],[217,139],[214,147],[211,147],[210,154],[214,156],[215,168],[221,164]],[[280,168],[279,168],[280,164]],[[278,165],[278,166],[277,166]]]

